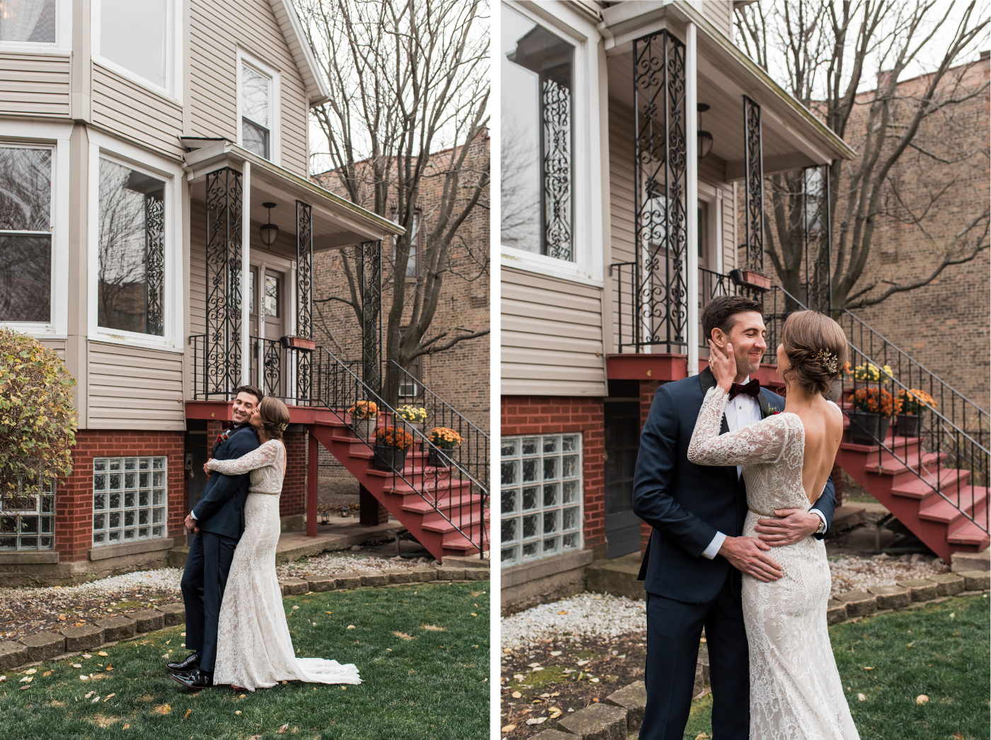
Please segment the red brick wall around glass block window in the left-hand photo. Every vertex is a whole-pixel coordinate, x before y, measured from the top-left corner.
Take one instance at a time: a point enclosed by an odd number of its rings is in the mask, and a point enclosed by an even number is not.
[[[72,474],[55,490],[55,551],[62,562],[85,560],[93,542],[93,458],[168,458],[168,537],[182,536],[186,485],[183,432],[76,432]]]

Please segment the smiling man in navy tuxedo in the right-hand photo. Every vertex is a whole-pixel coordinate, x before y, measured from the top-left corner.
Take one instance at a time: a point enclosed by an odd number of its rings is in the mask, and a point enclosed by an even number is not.
[[[738,375],[720,433],[735,432],[783,411],[785,400],[750,381],[760,367],[764,307],[742,296],[720,296],[703,311],[703,333],[733,346]],[[699,375],[662,385],[640,436],[633,512],[653,528],[639,580],[647,591],[647,705],[641,740],[681,740],[688,721],[699,640],[706,629],[713,688],[713,736],[746,740],[750,677],[741,573],[781,577],[771,548],[806,537],[822,539],[835,507],[830,476],[813,508],[778,509],[759,520],[759,540],[740,537],[746,517],[742,467],[696,465],[688,445],[702,402],[716,379]],[[735,392],[735,393],[734,393]],[[825,615],[824,615],[825,618]]]

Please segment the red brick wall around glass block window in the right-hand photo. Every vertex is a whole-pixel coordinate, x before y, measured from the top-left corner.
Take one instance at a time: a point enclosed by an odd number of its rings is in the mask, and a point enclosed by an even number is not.
[[[603,400],[557,396],[502,396],[502,436],[582,432],[585,549],[606,556],[606,444]]]

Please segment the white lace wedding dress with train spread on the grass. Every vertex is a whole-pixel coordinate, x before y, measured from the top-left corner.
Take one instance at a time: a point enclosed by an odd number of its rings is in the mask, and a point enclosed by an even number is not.
[[[251,472],[245,531],[234,551],[220,605],[213,682],[251,691],[260,686],[270,688],[280,680],[361,683],[354,664],[342,666],[337,661],[295,657],[275,575],[284,461],[285,447],[270,439],[236,460],[211,459],[207,463],[210,470],[224,475]]]

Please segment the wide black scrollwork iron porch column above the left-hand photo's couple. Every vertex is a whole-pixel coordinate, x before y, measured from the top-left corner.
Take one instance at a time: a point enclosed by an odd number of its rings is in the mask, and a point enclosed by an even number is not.
[[[206,397],[241,384],[241,173],[206,176]]]

